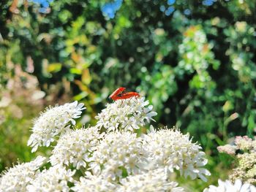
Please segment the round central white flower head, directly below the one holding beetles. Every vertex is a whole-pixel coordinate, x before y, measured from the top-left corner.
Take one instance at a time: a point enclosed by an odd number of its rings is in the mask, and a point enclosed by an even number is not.
[[[131,132],[110,132],[99,142],[90,163],[95,175],[116,180],[124,169],[127,174],[136,174],[143,169],[143,156],[140,138]]]

